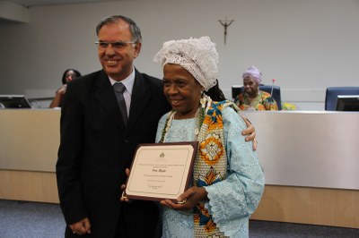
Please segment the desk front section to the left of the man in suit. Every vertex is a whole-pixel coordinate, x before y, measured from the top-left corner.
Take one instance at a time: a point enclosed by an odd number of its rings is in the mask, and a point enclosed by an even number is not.
[[[60,110],[0,110],[0,199],[58,203]]]

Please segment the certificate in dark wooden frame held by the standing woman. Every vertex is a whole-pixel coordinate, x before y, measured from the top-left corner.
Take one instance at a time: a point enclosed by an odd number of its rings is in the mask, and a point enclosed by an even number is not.
[[[188,188],[197,145],[197,141],[140,144],[123,196],[132,200],[177,201]]]

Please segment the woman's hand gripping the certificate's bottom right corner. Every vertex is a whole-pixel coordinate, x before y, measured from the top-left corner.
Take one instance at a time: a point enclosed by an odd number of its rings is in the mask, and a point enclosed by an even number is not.
[[[199,201],[207,199],[207,191],[205,188],[193,186],[180,194],[180,197],[177,199],[179,203],[175,203],[172,200],[162,200],[161,205],[175,210],[189,210],[194,208]]]

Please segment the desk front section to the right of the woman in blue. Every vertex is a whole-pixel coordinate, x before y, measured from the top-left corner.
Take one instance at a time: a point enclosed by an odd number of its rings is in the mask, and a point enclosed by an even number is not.
[[[359,113],[241,114],[266,176],[252,219],[359,228]]]

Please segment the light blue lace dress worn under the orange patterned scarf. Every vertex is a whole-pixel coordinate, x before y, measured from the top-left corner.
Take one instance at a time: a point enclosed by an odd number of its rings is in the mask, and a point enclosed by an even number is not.
[[[162,136],[167,115],[157,129],[156,141]],[[173,120],[164,142],[193,141],[197,118]],[[264,174],[251,142],[245,142],[241,132],[246,128],[232,108],[223,109],[224,144],[227,151],[227,178],[206,186],[209,209],[216,225],[228,237],[248,237],[249,217],[258,206],[264,190]],[[162,237],[194,237],[194,221],[190,212],[162,207]]]

